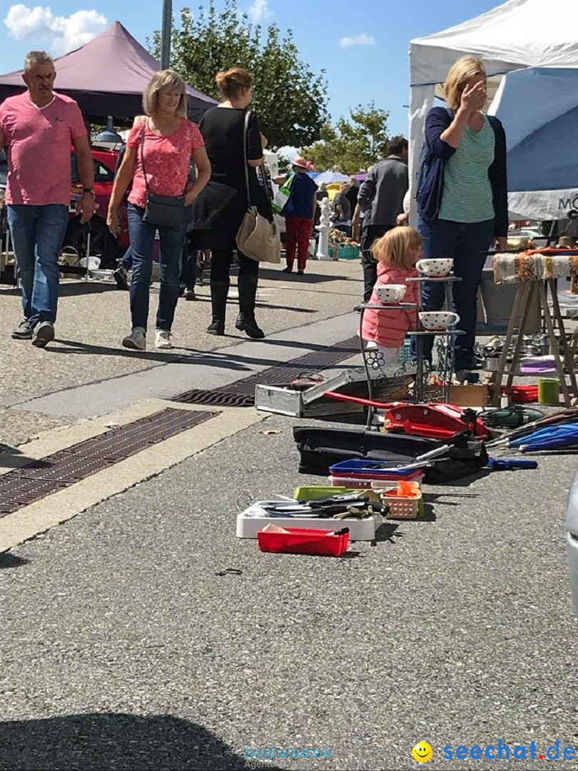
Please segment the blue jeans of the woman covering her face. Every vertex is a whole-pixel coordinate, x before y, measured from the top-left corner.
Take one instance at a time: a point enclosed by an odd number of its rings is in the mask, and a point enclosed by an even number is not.
[[[469,369],[474,363],[476,320],[478,318],[478,288],[482,270],[494,234],[494,221],[462,223],[448,220],[425,222],[420,219],[424,259],[451,258],[454,275],[462,279],[452,284],[454,310],[459,314],[457,329],[465,335],[455,335],[455,371]],[[445,300],[445,284],[425,281],[422,284],[424,311],[439,311]],[[432,361],[433,336],[424,338],[424,357]]]

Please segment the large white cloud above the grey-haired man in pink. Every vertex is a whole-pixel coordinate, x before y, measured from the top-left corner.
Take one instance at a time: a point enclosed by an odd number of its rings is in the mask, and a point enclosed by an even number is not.
[[[29,8],[19,3],[8,8],[4,23],[15,39],[49,40],[51,51],[63,54],[92,40],[102,32],[108,21],[106,16],[95,10],[56,16],[48,6]]]

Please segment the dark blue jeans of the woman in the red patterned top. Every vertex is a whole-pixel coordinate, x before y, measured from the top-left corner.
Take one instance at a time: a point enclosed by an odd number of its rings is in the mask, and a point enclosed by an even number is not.
[[[179,258],[183,247],[183,228],[150,225],[143,222],[144,209],[129,204],[129,235],[133,251],[133,277],[130,281],[130,315],[133,329],[146,329],[149,318],[150,276],[153,271],[153,243],[160,237],[160,293],[156,328],[170,332],[179,299]]]

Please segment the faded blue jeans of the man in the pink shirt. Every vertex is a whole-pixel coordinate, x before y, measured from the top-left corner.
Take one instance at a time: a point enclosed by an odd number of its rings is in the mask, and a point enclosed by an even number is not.
[[[59,301],[59,254],[69,208],[62,204],[8,205],[8,224],[22,284],[22,310],[32,328],[56,321]]]

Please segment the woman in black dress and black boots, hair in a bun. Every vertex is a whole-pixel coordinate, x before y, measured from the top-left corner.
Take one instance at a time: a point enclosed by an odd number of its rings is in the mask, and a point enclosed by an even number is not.
[[[211,250],[210,298],[213,320],[207,327],[210,335],[224,335],[230,264],[237,249],[235,237],[247,211],[247,173],[245,167],[245,116],[251,100],[253,78],[235,67],[219,72],[215,78],[223,101],[200,121],[211,177],[203,193],[193,205],[193,246]],[[271,201],[257,180],[257,167],[264,162],[263,148],[267,140],[259,131],[257,117],[251,113],[247,131],[247,166],[250,203],[270,221]],[[239,262],[239,309],[235,326],[250,338],[263,338],[264,332],[255,321],[255,296],[259,263],[237,249]]]

